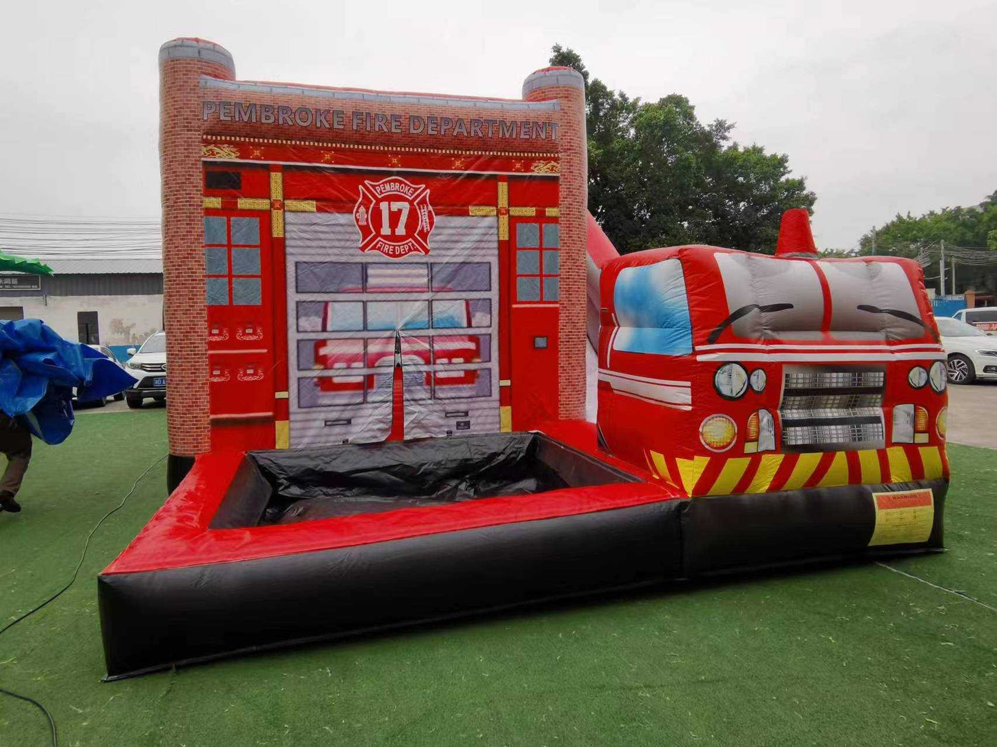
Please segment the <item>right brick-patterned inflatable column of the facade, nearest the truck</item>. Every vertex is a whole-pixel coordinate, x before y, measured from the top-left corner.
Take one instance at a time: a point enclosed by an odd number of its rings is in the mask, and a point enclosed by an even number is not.
[[[537,70],[522,84],[527,101],[556,99],[560,106],[560,345],[561,418],[585,417],[585,252],[588,149],[585,81],[571,68]]]

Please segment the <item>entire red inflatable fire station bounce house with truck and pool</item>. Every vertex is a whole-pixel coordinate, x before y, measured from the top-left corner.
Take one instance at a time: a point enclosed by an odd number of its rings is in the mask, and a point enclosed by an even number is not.
[[[509,100],[237,81],[199,39],[160,69],[172,494],[100,576],[110,677],[942,547],[913,261],[822,259],[804,210],[774,256],[618,256],[569,69]]]

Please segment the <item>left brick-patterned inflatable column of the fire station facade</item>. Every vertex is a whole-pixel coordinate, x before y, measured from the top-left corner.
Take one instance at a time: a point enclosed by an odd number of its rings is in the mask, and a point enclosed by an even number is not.
[[[232,56],[203,39],[160,48],[160,170],[170,492],[210,448],[201,188],[201,76],[235,79]]]

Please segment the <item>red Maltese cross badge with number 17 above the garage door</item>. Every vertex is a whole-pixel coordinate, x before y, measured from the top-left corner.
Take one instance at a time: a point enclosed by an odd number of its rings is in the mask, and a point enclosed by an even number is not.
[[[397,259],[414,252],[430,253],[436,214],[426,185],[401,177],[364,182],[353,207],[361,251],[380,251]]]

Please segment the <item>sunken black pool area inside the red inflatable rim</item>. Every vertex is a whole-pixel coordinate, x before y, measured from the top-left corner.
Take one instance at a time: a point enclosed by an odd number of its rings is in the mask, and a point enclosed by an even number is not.
[[[250,452],[211,526],[293,524],[636,480],[539,433]]]

